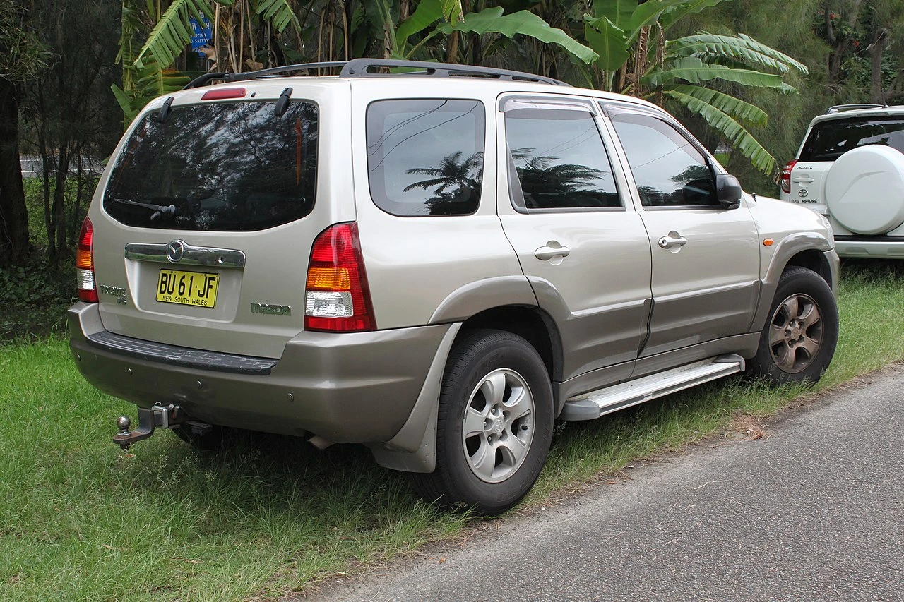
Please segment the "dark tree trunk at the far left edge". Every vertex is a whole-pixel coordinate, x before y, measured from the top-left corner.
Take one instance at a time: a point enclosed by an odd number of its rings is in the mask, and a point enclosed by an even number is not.
[[[19,163],[19,88],[0,78],[0,268],[28,248],[28,208]]]

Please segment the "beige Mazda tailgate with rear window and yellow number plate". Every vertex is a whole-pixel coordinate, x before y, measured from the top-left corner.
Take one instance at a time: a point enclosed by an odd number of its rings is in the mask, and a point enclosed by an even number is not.
[[[279,357],[302,330],[311,243],[354,219],[350,183],[321,177],[349,160],[348,84],[296,83],[280,115],[285,88],[187,90],[120,143],[89,212],[109,331]]]

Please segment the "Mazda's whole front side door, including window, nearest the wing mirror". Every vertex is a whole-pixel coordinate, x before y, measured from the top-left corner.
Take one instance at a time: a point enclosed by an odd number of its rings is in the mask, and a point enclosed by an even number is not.
[[[652,111],[607,106],[636,183],[653,257],[653,315],[641,357],[748,331],[759,295],[757,227],[716,201],[702,148]]]

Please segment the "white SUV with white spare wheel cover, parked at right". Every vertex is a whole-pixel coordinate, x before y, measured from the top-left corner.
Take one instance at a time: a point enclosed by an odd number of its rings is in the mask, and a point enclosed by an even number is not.
[[[780,198],[826,216],[841,257],[904,258],[904,107],[841,105],[810,122]]]

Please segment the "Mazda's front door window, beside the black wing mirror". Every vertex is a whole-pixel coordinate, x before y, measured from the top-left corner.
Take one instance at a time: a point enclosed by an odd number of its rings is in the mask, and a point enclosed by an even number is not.
[[[715,178],[703,155],[661,119],[612,117],[645,207],[718,205]]]

